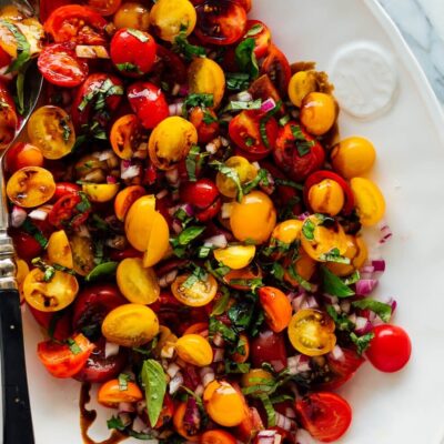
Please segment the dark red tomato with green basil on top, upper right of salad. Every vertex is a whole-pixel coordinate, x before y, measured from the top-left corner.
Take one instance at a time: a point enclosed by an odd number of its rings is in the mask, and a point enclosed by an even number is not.
[[[301,182],[324,164],[325,152],[302,127],[289,122],[279,129],[273,158],[285,174]]]

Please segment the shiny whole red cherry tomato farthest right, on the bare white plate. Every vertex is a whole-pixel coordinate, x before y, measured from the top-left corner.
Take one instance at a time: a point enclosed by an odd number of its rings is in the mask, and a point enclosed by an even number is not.
[[[412,343],[408,334],[397,325],[376,325],[366,351],[369,361],[381,372],[397,372],[408,362]]]

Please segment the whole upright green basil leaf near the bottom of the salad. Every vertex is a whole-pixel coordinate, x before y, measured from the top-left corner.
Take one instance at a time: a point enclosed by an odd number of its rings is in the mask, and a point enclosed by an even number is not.
[[[163,398],[167,393],[167,377],[162,365],[158,361],[143,361],[142,382],[145,387],[148,417],[151,426],[158,423],[163,407]]]

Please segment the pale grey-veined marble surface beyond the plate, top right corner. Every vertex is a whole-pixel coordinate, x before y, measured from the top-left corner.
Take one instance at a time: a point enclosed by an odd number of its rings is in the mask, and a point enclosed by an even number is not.
[[[401,30],[444,105],[444,0],[377,0]]]

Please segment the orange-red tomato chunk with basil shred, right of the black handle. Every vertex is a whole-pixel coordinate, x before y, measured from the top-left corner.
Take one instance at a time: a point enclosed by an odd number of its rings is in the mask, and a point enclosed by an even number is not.
[[[52,376],[71,377],[80,372],[93,350],[94,344],[78,333],[69,345],[52,341],[40,342],[37,355]]]

